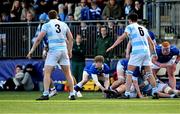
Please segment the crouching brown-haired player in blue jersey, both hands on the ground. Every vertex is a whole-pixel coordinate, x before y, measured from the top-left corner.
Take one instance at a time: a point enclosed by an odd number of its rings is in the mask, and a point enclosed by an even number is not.
[[[94,58],[94,63],[85,66],[83,71],[83,79],[74,87],[74,90],[76,92],[82,90],[83,85],[85,85],[90,78],[93,79],[96,86],[98,86],[102,91],[108,89],[109,71],[110,71],[109,66],[104,63],[104,57],[100,55],[96,56]],[[104,81],[104,86],[101,85],[99,80]]]

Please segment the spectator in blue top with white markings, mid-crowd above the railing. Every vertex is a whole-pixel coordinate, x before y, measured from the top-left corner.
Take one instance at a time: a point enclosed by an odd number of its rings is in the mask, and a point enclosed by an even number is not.
[[[100,20],[101,19],[101,9],[97,6],[96,0],[91,1],[91,8],[89,10],[90,20]]]

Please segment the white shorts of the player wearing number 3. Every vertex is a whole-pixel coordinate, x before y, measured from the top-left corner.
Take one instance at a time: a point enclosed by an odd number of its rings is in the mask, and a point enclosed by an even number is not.
[[[69,56],[66,51],[48,52],[45,66],[70,65]]]

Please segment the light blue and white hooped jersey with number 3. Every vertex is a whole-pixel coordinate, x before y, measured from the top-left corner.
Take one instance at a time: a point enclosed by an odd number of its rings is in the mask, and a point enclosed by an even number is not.
[[[48,38],[49,52],[66,51],[66,34],[70,31],[66,23],[57,19],[51,19],[48,23],[44,24],[41,29],[46,32]]]

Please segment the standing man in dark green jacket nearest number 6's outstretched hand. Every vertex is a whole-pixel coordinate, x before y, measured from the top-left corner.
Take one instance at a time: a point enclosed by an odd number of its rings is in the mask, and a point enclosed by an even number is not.
[[[113,40],[112,37],[108,35],[106,26],[102,26],[100,28],[100,32],[101,35],[97,38],[95,43],[95,55],[102,55],[105,59],[104,62],[110,65],[110,58],[112,54],[110,52],[106,53],[106,49],[112,45]]]

